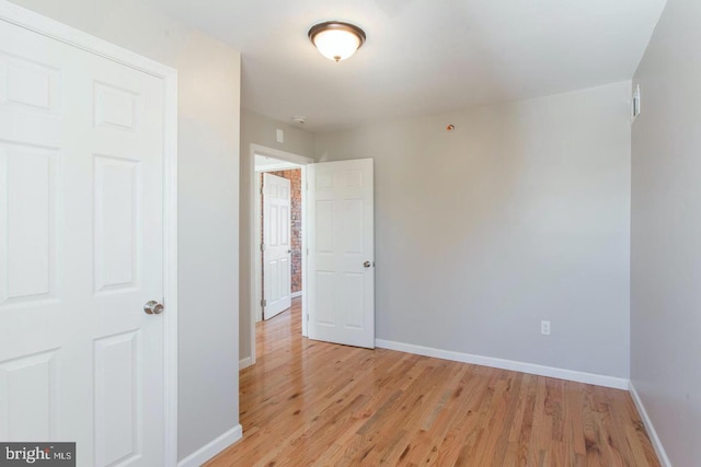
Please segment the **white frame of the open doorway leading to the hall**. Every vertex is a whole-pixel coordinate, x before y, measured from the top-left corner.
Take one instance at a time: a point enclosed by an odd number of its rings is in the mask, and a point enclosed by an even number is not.
[[[261,307],[261,301],[257,299],[261,296],[261,261],[262,261],[262,252],[260,248],[261,244],[261,232],[260,229],[256,229],[258,224],[258,219],[261,218],[261,172],[255,171],[255,155],[263,155],[266,157],[273,157],[285,162],[290,162],[292,164],[299,165],[301,172],[301,184],[302,184],[302,336],[307,336],[307,292],[304,290],[303,284],[307,283],[307,171],[306,165],[313,164],[315,161],[311,157],[304,157],[303,155],[294,154],[291,152],[281,151],[279,149],[267,148],[261,144],[252,143],[249,148],[249,163],[250,163],[250,172],[249,177],[251,179],[251,209],[249,210],[249,222],[251,226],[251,244],[249,245],[249,249],[251,252],[251,264],[249,265],[249,276],[251,277],[251,287],[249,290],[249,300],[251,304],[250,311],[250,319],[251,319],[251,349],[250,355],[251,360],[250,365],[255,363],[255,323],[257,316],[263,316],[263,308]],[[279,168],[276,168],[279,170]],[[248,365],[246,365],[248,366]],[[243,369],[245,366],[241,366]]]

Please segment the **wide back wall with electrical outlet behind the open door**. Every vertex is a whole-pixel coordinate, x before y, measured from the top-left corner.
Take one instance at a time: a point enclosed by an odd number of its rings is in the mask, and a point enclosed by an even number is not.
[[[629,106],[621,82],[318,135],[375,159],[377,337],[627,378]]]

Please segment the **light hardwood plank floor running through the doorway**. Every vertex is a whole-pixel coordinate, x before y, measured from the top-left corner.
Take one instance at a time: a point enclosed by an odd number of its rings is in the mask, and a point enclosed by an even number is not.
[[[658,466],[630,395],[258,324],[243,440],[207,466]]]

